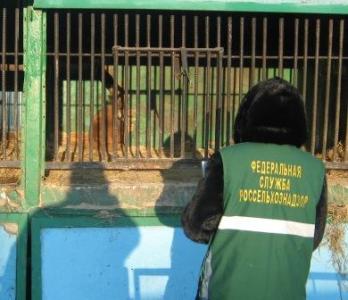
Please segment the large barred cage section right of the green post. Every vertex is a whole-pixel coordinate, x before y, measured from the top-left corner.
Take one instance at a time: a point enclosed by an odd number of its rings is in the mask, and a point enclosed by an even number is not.
[[[249,88],[274,76],[304,96],[307,150],[347,167],[344,16],[53,10],[47,20],[48,168],[206,158],[233,143]]]

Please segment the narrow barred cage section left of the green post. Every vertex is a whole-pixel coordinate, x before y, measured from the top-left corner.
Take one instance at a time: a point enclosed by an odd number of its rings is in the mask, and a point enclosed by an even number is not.
[[[19,5],[0,8],[0,167],[20,166],[22,18]]]

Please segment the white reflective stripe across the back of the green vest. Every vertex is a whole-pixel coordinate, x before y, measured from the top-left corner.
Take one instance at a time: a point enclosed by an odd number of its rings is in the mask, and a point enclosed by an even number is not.
[[[219,224],[219,230],[232,229],[263,233],[288,234],[306,238],[314,237],[314,228],[314,224],[240,216],[223,216]]]

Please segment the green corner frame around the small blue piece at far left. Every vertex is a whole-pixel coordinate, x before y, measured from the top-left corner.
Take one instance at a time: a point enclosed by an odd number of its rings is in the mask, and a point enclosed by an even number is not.
[[[16,223],[18,225],[19,231],[16,242],[16,300],[25,300],[27,293],[28,216],[20,213],[0,213],[0,223]]]

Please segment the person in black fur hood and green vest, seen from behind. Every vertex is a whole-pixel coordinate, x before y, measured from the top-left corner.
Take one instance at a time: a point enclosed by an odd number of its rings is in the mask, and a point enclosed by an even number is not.
[[[305,299],[327,211],[324,165],[300,149],[306,138],[296,88],[275,78],[247,93],[235,145],[211,157],[182,215],[186,235],[209,243],[196,299]]]

